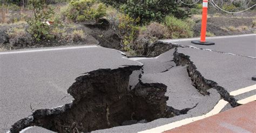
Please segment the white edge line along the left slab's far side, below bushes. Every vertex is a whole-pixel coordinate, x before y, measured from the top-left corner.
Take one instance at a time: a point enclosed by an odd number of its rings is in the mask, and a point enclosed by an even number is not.
[[[45,49],[33,49],[33,50],[21,50],[21,51],[4,51],[0,52],[0,55],[5,54],[19,54],[19,53],[32,53],[37,51],[55,51],[55,50],[67,50],[67,49],[79,49],[79,48],[95,48],[97,45],[90,46],[73,46],[73,47],[62,47],[62,48],[45,48]]]

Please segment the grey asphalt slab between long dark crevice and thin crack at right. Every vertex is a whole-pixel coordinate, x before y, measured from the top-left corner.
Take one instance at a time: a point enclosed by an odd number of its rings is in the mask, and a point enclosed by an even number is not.
[[[224,87],[228,92],[255,84],[250,79],[256,66],[256,60],[253,58],[193,48],[178,48],[177,53],[189,56],[201,75]]]

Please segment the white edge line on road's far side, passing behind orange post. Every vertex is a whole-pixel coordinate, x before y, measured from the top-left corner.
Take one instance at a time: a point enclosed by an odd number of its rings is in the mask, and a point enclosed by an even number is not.
[[[256,34],[243,34],[243,35],[227,35],[227,36],[214,36],[214,37],[207,37],[206,39],[222,39],[222,38],[237,38],[243,36],[252,36]],[[199,40],[200,38],[188,38],[188,39],[165,39],[159,40],[162,42],[178,42],[178,41],[192,41],[192,40]]]

